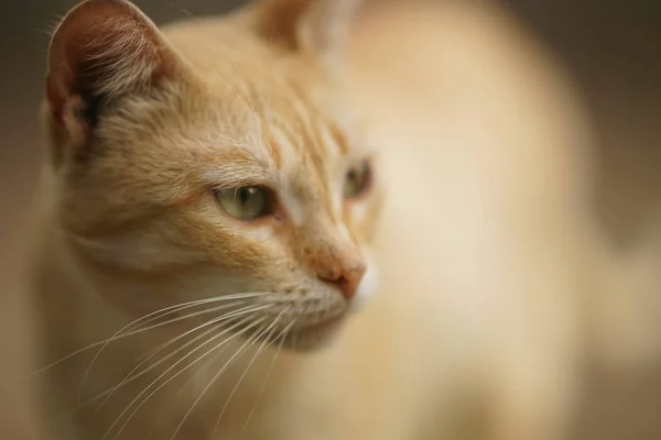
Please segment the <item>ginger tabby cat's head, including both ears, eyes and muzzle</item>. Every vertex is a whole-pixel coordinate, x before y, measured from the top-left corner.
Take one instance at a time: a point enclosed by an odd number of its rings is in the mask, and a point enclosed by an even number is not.
[[[46,102],[58,221],[113,305],[201,300],[180,312],[311,348],[373,290],[378,164],[337,52],[349,10],[264,1],[165,33],[119,0],[65,18]]]

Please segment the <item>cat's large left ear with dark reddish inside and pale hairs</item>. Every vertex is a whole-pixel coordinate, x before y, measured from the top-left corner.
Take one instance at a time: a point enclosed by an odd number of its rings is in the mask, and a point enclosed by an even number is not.
[[[56,28],[48,52],[47,111],[63,129],[94,125],[99,106],[147,92],[181,66],[156,26],[124,0],[87,0]]]

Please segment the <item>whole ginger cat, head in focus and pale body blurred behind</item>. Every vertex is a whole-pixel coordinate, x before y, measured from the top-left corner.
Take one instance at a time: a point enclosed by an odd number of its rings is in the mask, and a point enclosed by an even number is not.
[[[579,106],[486,4],[389,8],[351,28],[356,1],[262,0],[159,30],[88,0],[62,21],[53,438],[456,439],[464,403],[479,438],[566,438]]]

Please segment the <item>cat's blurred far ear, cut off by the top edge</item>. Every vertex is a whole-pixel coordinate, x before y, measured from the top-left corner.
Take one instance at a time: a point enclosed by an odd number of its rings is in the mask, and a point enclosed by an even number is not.
[[[285,47],[326,58],[342,56],[360,0],[258,0],[258,32]]]

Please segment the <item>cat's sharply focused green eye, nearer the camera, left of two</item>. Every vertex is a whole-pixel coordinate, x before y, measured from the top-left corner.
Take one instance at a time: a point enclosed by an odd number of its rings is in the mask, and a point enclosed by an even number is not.
[[[241,221],[252,221],[271,213],[269,194],[263,188],[246,186],[216,193],[220,207]]]

